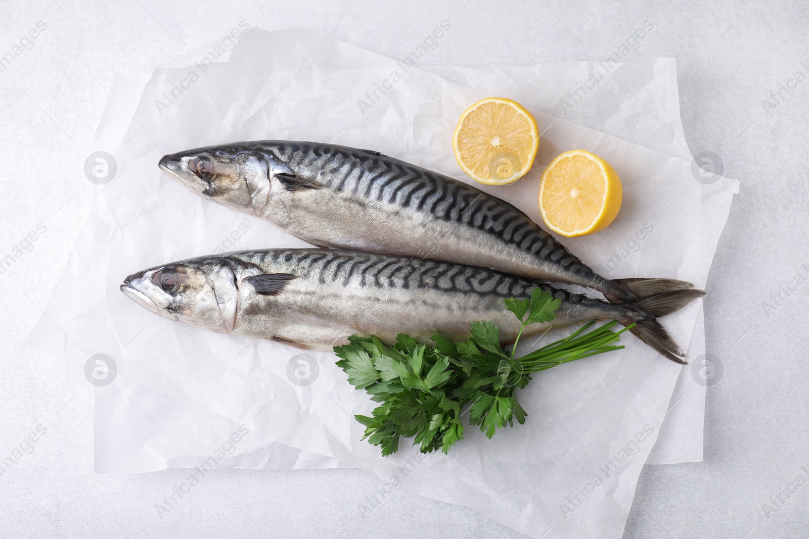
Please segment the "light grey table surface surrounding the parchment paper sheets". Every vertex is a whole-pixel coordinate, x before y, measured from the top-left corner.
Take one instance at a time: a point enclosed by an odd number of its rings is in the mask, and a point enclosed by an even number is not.
[[[155,499],[186,472],[92,472],[91,386],[24,341],[90,210],[83,163],[113,74],[150,71],[242,19],[394,58],[451,19],[423,64],[470,67],[604,60],[653,22],[633,55],[676,57],[688,146],[718,154],[741,187],[705,300],[724,370],[708,389],[705,462],[646,466],[624,537],[809,537],[809,284],[797,278],[809,280],[809,2],[264,2],[0,4],[0,55],[46,25],[0,72],[0,258],[48,227],[0,275],[0,455],[47,429],[0,477],[0,537],[523,537],[401,489],[361,520],[381,482],[358,470],[219,471],[163,520]]]

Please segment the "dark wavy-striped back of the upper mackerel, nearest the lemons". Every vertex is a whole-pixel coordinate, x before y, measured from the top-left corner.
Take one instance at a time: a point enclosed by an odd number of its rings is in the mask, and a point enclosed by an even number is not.
[[[480,230],[583,280],[602,280],[518,208],[449,176],[345,146],[287,141],[260,144],[299,175],[316,175],[324,187],[426,213],[447,225]]]

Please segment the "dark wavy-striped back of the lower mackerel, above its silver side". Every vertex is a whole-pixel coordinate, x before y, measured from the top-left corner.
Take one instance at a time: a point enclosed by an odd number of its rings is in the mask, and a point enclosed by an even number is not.
[[[507,275],[481,267],[399,256],[369,255],[332,249],[273,249],[241,251],[227,258],[262,272],[290,273],[324,286],[358,286],[443,293],[473,293],[480,296],[518,297],[531,295],[539,286],[563,301],[582,303],[587,298],[534,280]],[[594,301],[594,300],[590,300]]]

